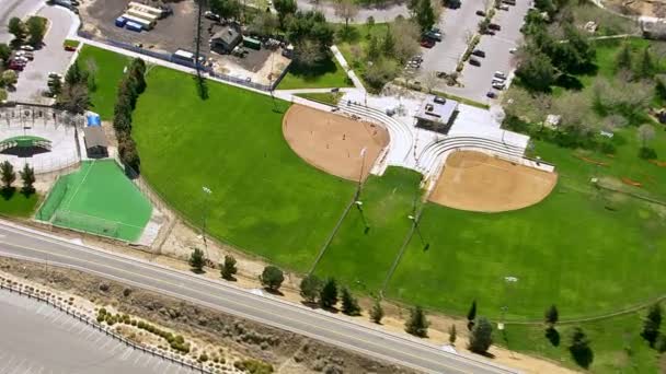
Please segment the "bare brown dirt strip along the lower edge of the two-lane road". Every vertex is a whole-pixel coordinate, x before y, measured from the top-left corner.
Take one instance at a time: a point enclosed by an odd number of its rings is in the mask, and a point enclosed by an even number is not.
[[[97,305],[111,305],[120,313],[196,336],[205,342],[229,347],[276,367],[286,364],[289,370],[285,373],[413,373],[292,332],[76,270],[45,269],[43,265],[9,258],[0,258],[0,270]]]

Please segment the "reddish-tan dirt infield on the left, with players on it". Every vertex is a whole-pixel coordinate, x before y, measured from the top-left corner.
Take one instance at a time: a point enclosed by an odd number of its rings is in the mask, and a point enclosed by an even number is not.
[[[365,179],[389,144],[389,132],[382,127],[302,105],[287,110],[283,135],[294,152],[309,164],[349,180],[358,180],[364,148]]]

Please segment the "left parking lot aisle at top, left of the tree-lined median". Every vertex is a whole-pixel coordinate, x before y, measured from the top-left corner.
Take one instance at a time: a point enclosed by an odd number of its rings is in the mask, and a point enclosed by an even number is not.
[[[464,0],[460,8],[444,10],[437,27],[441,31],[441,42],[433,48],[422,47],[422,75],[430,71],[451,72],[456,70],[458,59],[467,49],[469,35],[476,32],[481,17],[474,12],[484,8],[483,0]]]

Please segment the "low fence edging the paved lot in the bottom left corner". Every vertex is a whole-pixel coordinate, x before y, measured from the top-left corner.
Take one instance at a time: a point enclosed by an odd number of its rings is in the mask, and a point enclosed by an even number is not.
[[[7,284],[3,281],[0,281],[0,290],[8,290],[9,292],[15,292],[22,296],[27,296],[28,299],[34,299],[39,302],[46,303],[46,304],[50,305],[51,307],[54,307],[60,312],[64,312],[67,315],[84,323],[85,325],[104,332],[106,336],[111,337],[112,339],[116,339],[116,340],[120,341],[122,343],[126,344],[129,348],[140,350],[147,354],[152,354],[154,357],[159,357],[162,360],[170,361],[176,365],[181,365],[181,366],[187,367],[193,371],[198,371],[198,372],[205,373],[205,374],[215,373],[215,372],[206,369],[203,363],[200,365],[192,364],[192,363],[179,358],[177,355],[169,354],[168,352],[163,352],[158,348],[150,348],[150,347],[145,347],[139,343],[136,343],[136,342],[125,338],[124,336],[122,336],[117,332],[114,332],[112,328],[97,323],[96,319],[90,318],[84,313],[79,313],[73,307],[64,305],[66,303],[57,302],[49,297],[44,297],[44,296],[39,295],[38,293],[32,292],[32,291],[24,291],[21,289],[21,287],[14,287],[11,284]]]

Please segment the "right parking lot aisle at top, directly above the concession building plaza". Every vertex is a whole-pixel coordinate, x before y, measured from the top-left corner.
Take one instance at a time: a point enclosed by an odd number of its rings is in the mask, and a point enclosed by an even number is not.
[[[516,5],[509,7],[508,11],[497,10],[492,22],[498,24],[502,30],[495,35],[483,35],[476,46],[476,49],[485,52],[484,58],[475,57],[481,66],[475,67],[466,62],[461,77],[458,79],[461,87],[447,86],[444,81],[440,81],[436,89],[481,103],[490,102],[490,98],[486,97],[489,91],[500,94],[500,91],[491,86],[493,74],[495,71],[508,73],[515,68],[516,60],[510,49],[516,48],[523,40],[520,27],[530,3],[531,0],[517,0]]]

